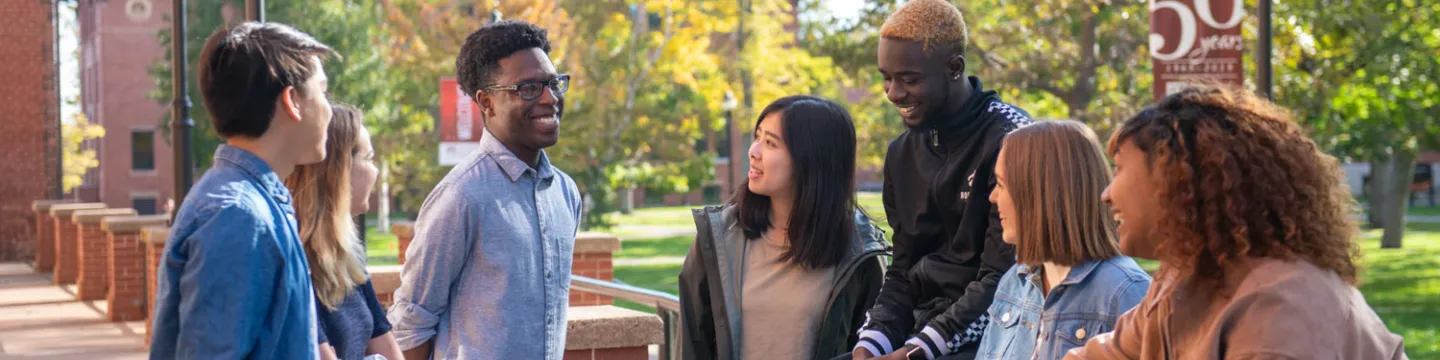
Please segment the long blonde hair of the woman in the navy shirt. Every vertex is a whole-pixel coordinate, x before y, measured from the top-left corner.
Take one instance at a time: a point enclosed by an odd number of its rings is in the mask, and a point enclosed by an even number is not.
[[[285,186],[295,197],[300,239],[310,261],[315,297],[330,310],[364,284],[364,249],[350,216],[350,166],[363,125],[360,111],[336,105],[325,140],[325,160],[295,167]]]

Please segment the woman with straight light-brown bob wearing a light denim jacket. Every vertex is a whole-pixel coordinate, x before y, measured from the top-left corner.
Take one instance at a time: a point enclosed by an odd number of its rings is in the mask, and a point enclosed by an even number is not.
[[[1094,131],[1041,121],[1005,138],[995,164],[1004,239],[1017,265],[999,281],[978,359],[1061,359],[1149,289],[1151,276],[1120,255],[1116,222],[1100,200],[1110,183]]]

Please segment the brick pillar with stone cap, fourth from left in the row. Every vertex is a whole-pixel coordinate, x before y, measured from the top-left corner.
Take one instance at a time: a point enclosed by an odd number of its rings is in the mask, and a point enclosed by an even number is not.
[[[145,248],[141,238],[148,236],[145,226],[164,229],[168,216],[112,216],[101,222],[108,235],[109,246],[109,291],[105,292],[105,318],[109,321],[135,321],[145,318]]]

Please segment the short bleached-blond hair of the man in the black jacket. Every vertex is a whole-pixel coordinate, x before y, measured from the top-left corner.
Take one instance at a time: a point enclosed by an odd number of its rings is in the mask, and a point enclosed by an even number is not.
[[[946,0],[910,0],[900,6],[880,26],[880,37],[950,46],[955,55],[965,53],[968,35],[960,9]]]

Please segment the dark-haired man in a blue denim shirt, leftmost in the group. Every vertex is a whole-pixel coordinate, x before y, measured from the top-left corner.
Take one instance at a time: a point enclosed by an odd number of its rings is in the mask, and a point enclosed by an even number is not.
[[[176,212],[150,359],[315,359],[315,295],[281,179],[325,158],[330,101],[314,37],[278,23],[210,35],[199,84],[225,145]]]

